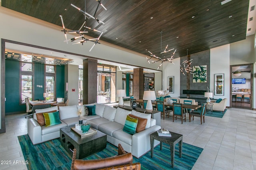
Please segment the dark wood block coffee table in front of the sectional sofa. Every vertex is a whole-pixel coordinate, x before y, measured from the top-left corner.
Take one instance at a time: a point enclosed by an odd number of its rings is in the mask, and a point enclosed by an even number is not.
[[[60,143],[71,157],[76,148],[76,159],[82,159],[106,148],[107,135],[97,131],[94,135],[80,137],[70,127],[64,127],[60,129]]]

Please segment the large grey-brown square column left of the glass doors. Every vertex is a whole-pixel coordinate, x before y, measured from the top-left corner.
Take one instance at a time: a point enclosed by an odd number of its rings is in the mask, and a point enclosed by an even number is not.
[[[97,102],[97,60],[85,59],[84,64],[84,98],[83,104]]]

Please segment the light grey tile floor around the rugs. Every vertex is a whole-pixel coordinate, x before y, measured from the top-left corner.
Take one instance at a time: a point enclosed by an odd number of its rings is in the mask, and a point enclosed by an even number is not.
[[[6,133],[0,134],[0,170],[27,169],[17,138],[27,133],[25,115],[6,116]],[[185,143],[204,148],[193,170],[256,170],[256,111],[229,108],[222,118],[206,116],[202,125],[199,117],[183,124],[162,117],[161,125],[182,134]]]

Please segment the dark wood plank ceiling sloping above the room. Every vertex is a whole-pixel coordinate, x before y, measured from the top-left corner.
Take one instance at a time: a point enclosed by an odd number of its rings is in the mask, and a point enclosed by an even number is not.
[[[168,44],[168,49],[177,49],[177,58],[187,55],[187,49],[192,54],[246,39],[249,0],[232,0],[223,5],[222,1],[101,0],[107,10],[99,6],[96,18],[105,24],[89,18],[86,26],[103,31],[100,40],[150,55],[147,49],[157,56],[162,31],[162,51]],[[62,15],[67,29],[78,30],[84,15],[70,4],[84,10],[85,1],[2,0],[6,8],[60,26]],[[96,0],[86,0],[86,12],[93,15],[97,5]],[[98,37],[99,33],[91,31],[86,35]]]

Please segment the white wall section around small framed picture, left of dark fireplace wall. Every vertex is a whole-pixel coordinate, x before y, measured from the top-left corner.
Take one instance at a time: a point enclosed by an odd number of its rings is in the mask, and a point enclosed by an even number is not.
[[[164,62],[163,63],[163,78],[162,78],[162,87],[163,90],[166,90],[168,87],[168,76],[174,76],[174,93],[170,93],[171,97],[180,96],[180,58],[173,59],[172,63]]]

